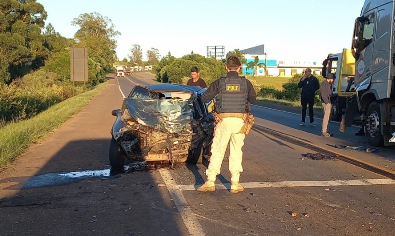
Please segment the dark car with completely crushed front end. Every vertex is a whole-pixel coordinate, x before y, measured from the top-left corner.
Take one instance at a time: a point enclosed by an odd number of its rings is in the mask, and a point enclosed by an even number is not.
[[[136,85],[113,110],[110,163],[125,159],[201,163],[210,157],[214,131],[211,102],[201,101],[205,88],[158,83]]]

